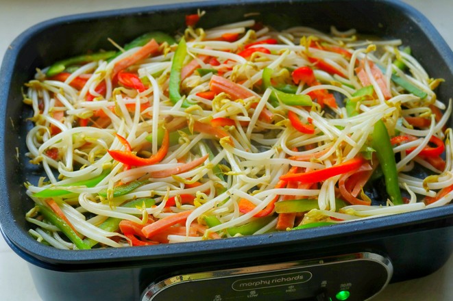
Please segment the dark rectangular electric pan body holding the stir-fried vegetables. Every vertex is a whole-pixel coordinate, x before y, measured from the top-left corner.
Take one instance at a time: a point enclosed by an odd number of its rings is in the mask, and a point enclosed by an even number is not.
[[[437,90],[438,99],[453,96],[452,51],[424,16],[400,1],[212,1],[79,14],[40,23],[14,40],[0,70],[1,231],[11,248],[29,261],[40,296],[137,300],[149,283],[175,274],[367,252],[391,261],[392,282],[425,276],[441,267],[453,250],[453,205],[304,231],[144,248],[57,250],[29,237],[24,216],[33,202],[23,183],[35,182],[41,171],[25,158],[25,134],[31,126],[26,118],[31,112],[22,103],[23,83],[36,68],[56,60],[88,49],[111,49],[107,38],[124,44],[150,30],[175,34],[184,29],[184,16],[198,8],[207,12],[199,24],[205,28],[259,12],[254,18],[276,29],[306,25],[329,31],[335,25],[340,30],[355,28],[363,34],[401,38],[428,74],[445,79]],[[182,296],[193,297],[188,292]]]

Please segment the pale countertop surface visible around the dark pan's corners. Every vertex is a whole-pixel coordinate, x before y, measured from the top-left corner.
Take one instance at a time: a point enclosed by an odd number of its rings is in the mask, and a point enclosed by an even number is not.
[[[132,8],[146,5],[186,2],[184,0],[0,0],[0,62],[8,45],[25,29],[49,18]],[[404,0],[422,12],[453,49],[452,0]],[[429,257],[426,260],[430,260]],[[33,285],[27,263],[14,253],[0,235],[0,300],[41,301]],[[430,276],[389,285],[376,301],[453,300],[453,257]],[[99,300],[101,301],[101,300]]]

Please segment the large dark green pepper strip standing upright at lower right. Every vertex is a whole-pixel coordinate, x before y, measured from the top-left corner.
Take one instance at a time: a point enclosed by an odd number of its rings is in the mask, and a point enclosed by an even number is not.
[[[380,163],[385,179],[387,194],[394,205],[402,205],[400,186],[398,185],[398,173],[396,170],[395,154],[390,143],[390,136],[382,120],[376,122],[373,130],[371,146],[376,150],[376,156]]]

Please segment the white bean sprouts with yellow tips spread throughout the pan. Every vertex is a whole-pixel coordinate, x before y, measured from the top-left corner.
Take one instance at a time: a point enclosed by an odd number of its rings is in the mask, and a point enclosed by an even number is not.
[[[294,226],[376,218],[438,207],[452,200],[452,193],[448,193],[429,205],[423,201],[426,197],[439,196],[441,189],[453,185],[452,131],[445,129],[452,111],[451,101],[437,99],[433,90],[441,80],[430,78],[411,54],[400,51],[401,40],[360,40],[355,30],[339,31],[334,27],[329,34],[324,34],[302,26],[275,31],[271,27],[258,25],[250,20],[212,29],[189,26],[175,37],[180,40],[184,36],[186,40],[188,55],[184,64],[198,60],[199,68],[217,70],[217,76],[247,88],[252,96],[246,99],[232,99],[227,93],[218,93],[214,99],[199,96],[200,92],[210,90],[214,74],[194,72],[182,80],[182,99],[173,103],[169,99],[169,76],[177,43],[162,43],[156,55],[128,67],[145,83],[146,88],[141,92],[120,86],[112,79],[115,64],[134,55],[140,47],[127,51],[119,47],[122,53],[112,60],[79,64],[65,81],[47,77],[47,68],[38,70],[36,77],[27,83],[25,92],[25,103],[32,106],[34,112],[31,118],[34,127],[27,134],[27,156],[33,163],[40,164],[45,174],[38,183],[27,183],[27,195],[37,205],[45,205],[46,198],[36,197],[35,194],[45,189],[64,187],[71,194],[54,196],[53,199],[79,235],[99,242],[102,247],[131,245],[130,239],[120,231],[99,228],[99,224],[108,218],[143,225],[182,211],[191,211],[185,222],[177,225],[185,226],[185,235],[168,235],[168,241],[173,243],[212,239],[213,233],[216,235],[214,238],[230,237],[228,228],[259,219],[254,215],[265,209],[276,196],[279,201],[288,197],[317,200],[319,208],[297,215]],[[225,40],[225,34],[236,34],[237,39]],[[256,44],[252,47],[264,47],[270,53],[257,52],[250,57],[238,55],[245,44],[269,38],[277,40],[278,44]],[[341,47],[350,53],[350,58],[313,47],[310,44],[313,41]],[[308,52],[328,62],[344,76],[317,68],[307,59]],[[219,64],[200,60],[200,55],[214,57]],[[350,117],[344,103],[353,98],[354,92],[363,88],[355,68],[364,60],[383,67],[384,83],[391,91],[391,98],[384,98],[380,86],[365,66],[375,93],[373,97],[358,103],[360,114]],[[407,69],[397,68],[393,64],[395,60],[404,62]],[[270,68],[273,77],[289,82],[291,71],[300,66],[313,68],[319,85],[299,83],[296,94],[327,90],[335,95],[338,106],[321,106],[315,99],[311,107],[288,105],[282,101],[272,105],[269,102],[273,90],[262,88],[263,70]],[[426,97],[416,96],[395,84],[391,81],[392,74],[425,92]],[[77,77],[87,79],[83,87],[70,85]],[[101,82],[106,85],[103,93],[96,91]],[[95,96],[93,101],[86,100],[88,94]],[[184,101],[191,105],[182,106]],[[430,105],[443,112],[441,118],[434,118]],[[270,121],[260,118],[264,109],[271,113]],[[315,132],[300,133],[294,129],[287,117],[289,111],[297,114],[302,122],[314,125]],[[405,116],[425,116],[430,125],[413,127],[406,122]],[[228,133],[227,138],[193,131],[194,122],[209,125],[214,118],[234,120],[234,125],[221,127]],[[88,120],[87,125],[81,126],[80,119]],[[379,205],[336,208],[336,199],[341,198],[338,192],[341,175],[304,189],[276,188],[280,176],[289,172],[292,166],[297,166],[299,172],[321,170],[357,157],[369,146],[370,135],[378,120],[384,120],[391,137],[399,133],[416,138],[393,148],[397,160],[397,181],[405,196],[403,205],[396,206],[390,200],[384,200]],[[158,163],[127,169],[108,153],[108,150],[125,150],[125,145],[117,136],[120,135],[130,144],[134,154],[140,157],[156,154],[160,148],[159,129],[169,128],[178,122],[184,123],[189,131],[179,131],[177,143],[169,147],[167,155]],[[438,170],[426,158],[417,155],[428,145],[432,136],[445,142],[443,170]],[[407,153],[409,148],[415,150]],[[49,155],[51,151],[57,155]],[[210,153],[208,159],[191,170],[163,178],[153,177],[155,172],[173,170]],[[297,157],[306,159],[295,159]],[[431,175],[420,179],[411,173],[415,166],[422,166]],[[221,170],[221,176],[213,171],[214,168]],[[108,174],[94,187],[77,185],[106,170]],[[113,196],[114,187],[137,180],[147,181],[127,194]],[[100,196],[101,191],[107,191],[107,196]],[[192,203],[182,203],[179,196],[184,194],[191,194],[195,199]],[[176,197],[175,205],[166,207],[167,200],[172,197]],[[122,206],[138,198],[153,198],[155,204],[151,207]],[[254,208],[241,211],[238,206],[241,199],[252,202]],[[220,223],[209,226],[204,220],[208,215],[215,216]],[[272,217],[269,222],[254,234],[276,231],[278,214],[273,212],[269,216]],[[38,241],[45,241],[56,248],[77,248],[62,235],[58,226],[43,218],[36,207],[27,213],[26,218],[34,224],[30,234]],[[198,235],[189,234],[194,224],[201,226]],[[237,235],[241,234],[234,236]]]

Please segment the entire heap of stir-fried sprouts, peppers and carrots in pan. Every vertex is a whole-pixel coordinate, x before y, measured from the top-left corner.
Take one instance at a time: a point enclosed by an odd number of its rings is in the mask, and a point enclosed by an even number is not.
[[[26,84],[28,155],[45,173],[26,184],[38,241],[152,248],[451,202],[451,101],[408,45],[197,28],[203,14],[184,36],[143,34]]]

